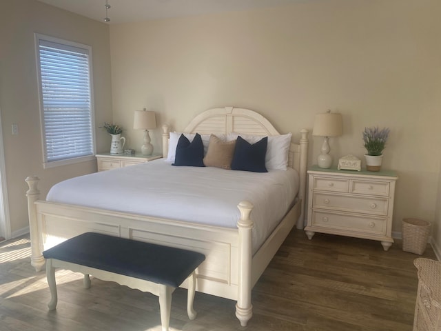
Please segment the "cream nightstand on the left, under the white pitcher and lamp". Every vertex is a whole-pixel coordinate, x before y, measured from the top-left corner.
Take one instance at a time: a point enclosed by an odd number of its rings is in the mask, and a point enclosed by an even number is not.
[[[98,163],[98,171],[123,168],[129,165],[161,159],[161,157],[163,157],[162,154],[127,155],[127,154],[110,154],[110,153],[101,153],[101,154],[96,154],[95,156],[96,156],[96,162]]]

